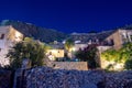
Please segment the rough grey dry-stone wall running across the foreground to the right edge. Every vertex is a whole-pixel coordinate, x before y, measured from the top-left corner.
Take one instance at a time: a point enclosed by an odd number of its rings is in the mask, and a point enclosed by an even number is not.
[[[65,70],[37,67],[25,72],[26,88],[132,88],[132,70]]]

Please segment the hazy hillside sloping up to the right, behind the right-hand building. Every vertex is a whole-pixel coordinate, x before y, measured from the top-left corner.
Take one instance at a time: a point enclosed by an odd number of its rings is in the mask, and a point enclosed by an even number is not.
[[[132,30],[132,24],[120,26],[117,29],[112,29],[109,31],[102,31],[102,32],[89,32],[89,33],[72,33],[68,38],[72,38],[73,41],[81,41],[81,43],[87,43],[89,41],[97,41],[97,38],[101,42],[109,35],[111,35],[113,32],[116,32],[118,29],[123,30]]]

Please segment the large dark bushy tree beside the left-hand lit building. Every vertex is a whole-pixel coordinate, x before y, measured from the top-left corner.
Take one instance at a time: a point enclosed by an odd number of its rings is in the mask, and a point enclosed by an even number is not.
[[[15,69],[21,67],[24,58],[31,59],[31,66],[44,65],[45,45],[38,41],[25,37],[24,41],[16,43],[7,54],[10,58],[10,66]]]

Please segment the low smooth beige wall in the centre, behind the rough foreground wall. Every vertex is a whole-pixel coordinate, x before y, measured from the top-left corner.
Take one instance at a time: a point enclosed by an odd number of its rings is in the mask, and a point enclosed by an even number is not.
[[[55,69],[88,70],[87,62],[48,62],[47,66]]]

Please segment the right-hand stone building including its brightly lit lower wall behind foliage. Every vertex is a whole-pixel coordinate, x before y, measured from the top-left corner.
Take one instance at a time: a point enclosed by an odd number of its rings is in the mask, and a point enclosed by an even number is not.
[[[112,46],[110,46],[110,48],[120,50],[123,46],[123,44],[125,44],[128,42],[132,42],[132,30],[118,29],[116,32],[113,32],[111,35],[109,35],[105,41],[108,43],[109,42],[112,43]],[[103,51],[101,51],[101,52],[103,52]],[[108,62],[102,58],[100,58],[100,59],[101,59],[101,62],[100,62],[101,68],[106,68],[106,67],[114,64],[114,62]],[[122,69],[123,65],[124,65],[123,63],[120,63],[120,64],[114,65],[113,68]]]

